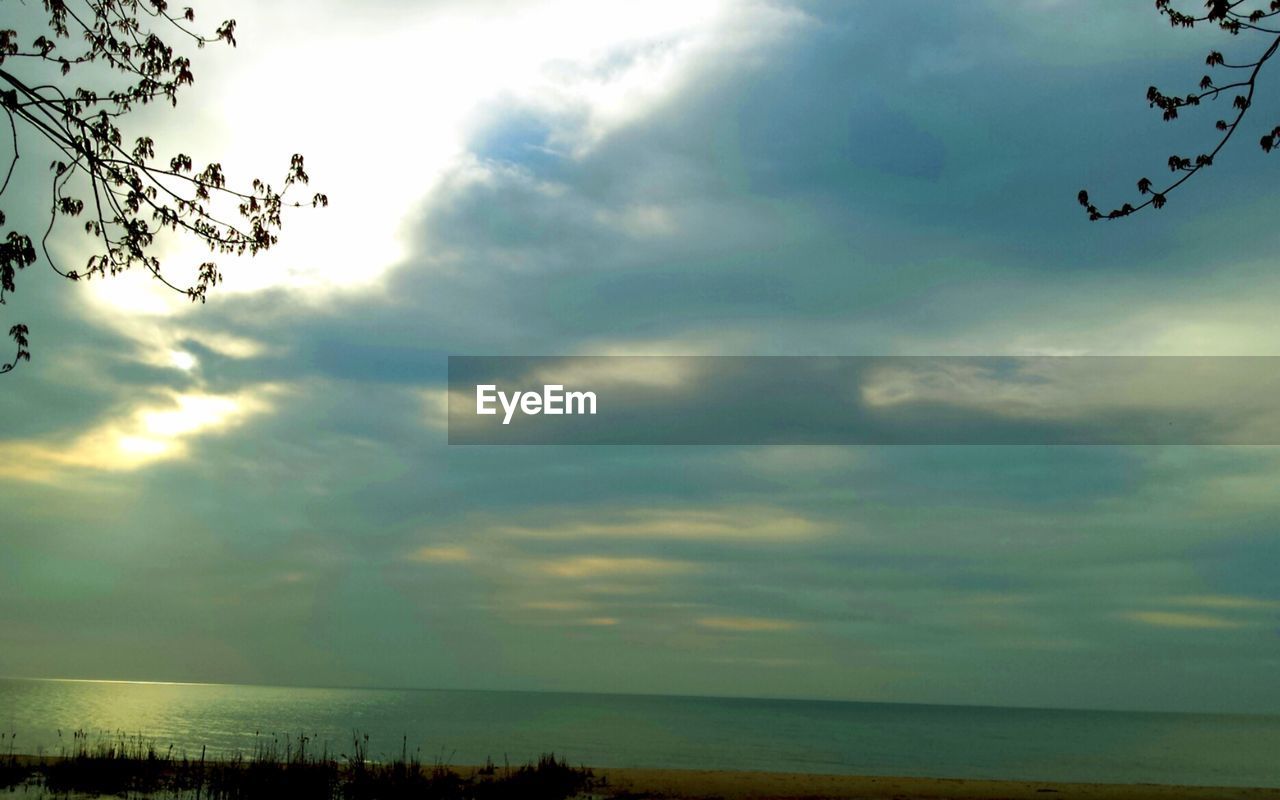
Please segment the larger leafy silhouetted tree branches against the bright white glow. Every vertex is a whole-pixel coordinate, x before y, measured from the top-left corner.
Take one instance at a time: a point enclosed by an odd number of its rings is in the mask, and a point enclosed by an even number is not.
[[[161,273],[159,259],[150,255],[156,234],[168,229],[195,236],[216,253],[255,255],[270,248],[276,243],[282,210],[305,205],[285,201],[294,184],[307,183],[302,156],[293,155],[279,189],[261,179],[253,179],[248,189],[236,189],[228,186],[218,163],[196,169],[191,156],[180,152],[157,160],[148,136],[127,145],[118,122],[152,101],[175,106],[179,90],[195,81],[191,60],[165,44],[157,29],[197,47],[212,42],[236,46],[236,20],[205,36],[192,27],[192,9],[174,12],[168,0],[42,3],[47,24],[41,26],[38,36],[0,29],[0,108],[9,123],[6,143],[12,147],[0,196],[9,189],[18,166],[19,128],[38,134],[59,151],[50,164],[52,204],[49,227],[40,239],[49,265],[69,280],[115,275],[138,265],[170,289],[204,302],[209,288],[221,280],[218,265],[200,264],[195,283],[180,287]],[[234,219],[215,211],[219,200],[236,205]],[[317,193],[306,205],[328,202]],[[49,237],[59,218],[82,215],[95,252],[83,269],[64,270],[49,253]],[[0,303],[14,292],[18,271],[37,260],[32,237],[4,230],[5,225],[0,210]],[[9,335],[18,352],[13,361],[0,365],[0,374],[31,360],[27,326],[14,325]]]

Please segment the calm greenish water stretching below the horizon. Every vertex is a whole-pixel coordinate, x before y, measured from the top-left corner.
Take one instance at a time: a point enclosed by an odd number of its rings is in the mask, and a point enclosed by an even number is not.
[[[56,754],[72,731],[198,755],[308,748],[512,764],[1280,786],[1280,717],[508,691],[0,680],[0,731]],[[8,745],[6,745],[8,746]]]

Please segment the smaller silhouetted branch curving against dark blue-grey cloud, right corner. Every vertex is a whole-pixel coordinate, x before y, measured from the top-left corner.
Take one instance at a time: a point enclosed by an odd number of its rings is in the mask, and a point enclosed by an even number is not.
[[[1212,150],[1202,152],[1194,159],[1176,154],[1169,156],[1169,169],[1175,174],[1180,173],[1171,183],[1156,189],[1151,178],[1139,179],[1138,193],[1147,197],[1147,200],[1137,206],[1126,202],[1119,209],[1101,211],[1089,201],[1089,193],[1080,189],[1078,200],[1084,206],[1091,220],[1119,219],[1140,211],[1147,206],[1155,209],[1164,207],[1170,192],[1187,183],[1192,175],[1206,166],[1212,166],[1213,159],[1231,141],[1244,115],[1253,105],[1253,92],[1257,88],[1258,74],[1276,54],[1276,50],[1280,49],[1280,27],[1276,27],[1280,20],[1272,22],[1280,14],[1280,0],[1271,0],[1266,6],[1267,10],[1263,10],[1257,4],[1247,3],[1247,0],[1207,0],[1204,8],[1206,13],[1196,17],[1171,8],[1170,0],[1156,0],[1156,10],[1167,17],[1169,23],[1175,28],[1193,28],[1199,23],[1211,23],[1219,26],[1231,36],[1239,36],[1242,32],[1261,35],[1267,40],[1266,47],[1262,49],[1261,55],[1254,60],[1242,64],[1228,64],[1222,54],[1213,50],[1204,59],[1210,69],[1222,68],[1233,70],[1233,74],[1242,76],[1240,79],[1219,84],[1215,83],[1212,77],[1206,74],[1201,78],[1199,91],[1185,96],[1166,95],[1152,86],[1147,90],[1147,102],[1151,108],[1160,109],[1165,122],[1171,122],[1178,119],[1178,110],[1181,108],[1198,106],[1202,100],[1217,100],[1224,92],[1235,92],[1231,100],[1234,114],[1229,119],[1217,120],[1215,127],[1221,136]],[[1263,152],[1271,152],[1280,143],[1280,125],[1276,125],[1270,133],[1263,136],[1260,143]]]

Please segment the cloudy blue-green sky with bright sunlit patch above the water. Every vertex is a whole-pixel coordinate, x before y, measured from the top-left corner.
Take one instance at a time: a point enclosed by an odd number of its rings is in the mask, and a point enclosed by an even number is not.
[[[224,5],[137,124],[330,206],[206,305],[19,275],[0,675],[1280,713],[1276,448],[449,447],[442,403],[451,355],[1277,356],[1274,76],[1167,207],[1075,200],[1208,142],[1147,86],[1256,45],[1110,0]]]

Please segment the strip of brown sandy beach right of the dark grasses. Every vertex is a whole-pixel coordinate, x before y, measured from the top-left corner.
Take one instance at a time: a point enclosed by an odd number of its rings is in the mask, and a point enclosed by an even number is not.
[[[605,778],[602,795],[722,800],[964,799],[964,800],[1235,800],[1280,799],[1280,788],[1052,783],[1044,781],[982,781],[897,778],[777,772],[713,772],[699,769],[596,769]]]

